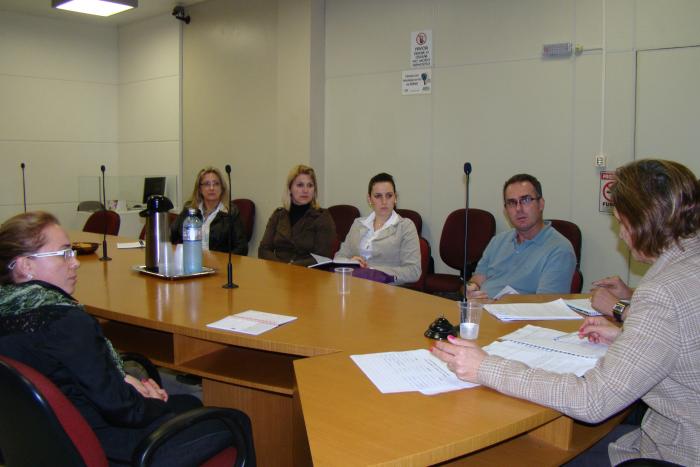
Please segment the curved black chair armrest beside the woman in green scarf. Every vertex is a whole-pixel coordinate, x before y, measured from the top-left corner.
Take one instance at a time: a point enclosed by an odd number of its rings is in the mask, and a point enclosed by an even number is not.
[[[219,420],[226,425],[233,437],[233,447],[237,451],[236,467],[244,467],[248,457],[247,435],[238,421],[238,416],[240,416],[240,412],[237,410],[219,407],[201,407],[180,414],[163,423],[141,440],[134,450],[132,464],[139,467],[149,465],[158,448],[173,436],[200,422]]]

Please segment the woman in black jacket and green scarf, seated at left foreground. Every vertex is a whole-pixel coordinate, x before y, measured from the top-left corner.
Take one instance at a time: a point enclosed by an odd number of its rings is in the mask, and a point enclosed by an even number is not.
[[[48,377],[92,427],[110,465],[131,465],[146,436],[201,402],[124,371],[97,320],[71,296],[79,267],[52,214],[28,212],[0,226],[0,355]],[[250,430],[248,417],[236,416]],[[230,445],[230,433],[210,420],[166,441],[151,465],[199,465]]]

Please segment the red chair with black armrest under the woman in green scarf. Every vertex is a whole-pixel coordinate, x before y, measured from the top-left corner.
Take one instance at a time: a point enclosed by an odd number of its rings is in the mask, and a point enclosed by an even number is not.
[[[4,356],[0,356],[0,412],[0,446],[6,465],[107,467],[97,436],[68,398],[41,373]],[[204,465],[244,466],[245,435],[227,412],[229,409],[202,407],[172,418],[141,442],[132,465],[148,465],[163,441],[188,426],[217,419],[231,431],[236,445]]]

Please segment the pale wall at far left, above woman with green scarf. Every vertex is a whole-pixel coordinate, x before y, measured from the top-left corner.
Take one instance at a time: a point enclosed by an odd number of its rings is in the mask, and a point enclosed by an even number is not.
[[[80,175],[116,167],[117,31],[0,11],[0,219],[27,209],[77,222]]]

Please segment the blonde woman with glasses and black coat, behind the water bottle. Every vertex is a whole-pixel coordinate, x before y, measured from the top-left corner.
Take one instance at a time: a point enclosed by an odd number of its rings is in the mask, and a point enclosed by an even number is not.
[[[192,196],[170,226],[170,241],[173,243],[182,243],[182,224],[187,218],[188,208],[197,208],[202,213],[204,250],[227,253],[230,246],[233,254],[248,254],[248,238],[240,213],[235,204],[231,204],[231,212],[228,212],[228,185],[218,169],[205,167],[197,174]]]

